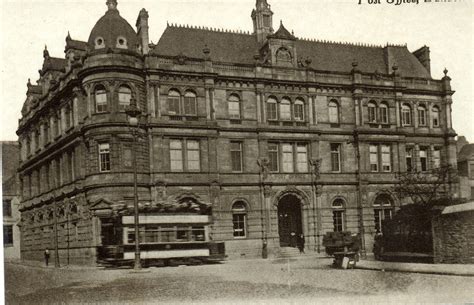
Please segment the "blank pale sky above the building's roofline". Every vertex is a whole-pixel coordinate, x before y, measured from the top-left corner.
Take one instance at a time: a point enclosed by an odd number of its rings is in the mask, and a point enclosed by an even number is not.
[[[38,79],[44,45],[51,56],[64,57],[67,31],[86,41],[96,21],[106,11],[106,0],[2,0],[1,7],[1,111],[0,140],[16,140],[26,82]],[[414,51],[431,50],[432,77],[446,67],[456,90],[453,123],[459,135],[474,142],[473,5],[471,0],[403,4],[381,0],[268,0],[274,28],[280,19],[297,37],[404,44]],[[395,0],[396,1],[396,0]],[[420,0],[424,1],[424,0]],[[135,26],[141,8],[148,10],[150,40],[157,42],[166,22],[252,31],[250,13],[255,0],[118,0],[120,14]]]

